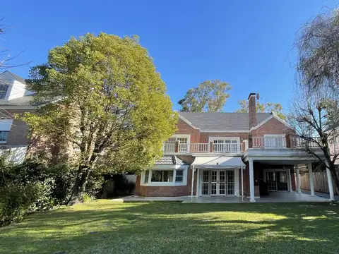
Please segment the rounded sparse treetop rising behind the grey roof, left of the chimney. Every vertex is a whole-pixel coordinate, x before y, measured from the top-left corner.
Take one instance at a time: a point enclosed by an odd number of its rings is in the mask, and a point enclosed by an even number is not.
[[[178,104],[182,107],[180,111],[189,112],[218,112],[222,111],[227,98],[230,95],[227,91],[231,86],[220,80],[206,80],[186,92],[184,99]]]

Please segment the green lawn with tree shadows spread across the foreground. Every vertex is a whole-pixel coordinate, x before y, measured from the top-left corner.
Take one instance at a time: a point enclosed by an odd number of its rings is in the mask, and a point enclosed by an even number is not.
[[[0,229],[0,253],[339,253],[339,206],[98,200]]]

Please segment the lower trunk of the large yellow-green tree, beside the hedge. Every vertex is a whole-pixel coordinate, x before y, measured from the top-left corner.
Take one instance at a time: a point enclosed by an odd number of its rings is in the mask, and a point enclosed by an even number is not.
[[[78,202],[82,202],[83,193],[85,192],[85,187],[88,181],[89,174],[90,169],[88,167],[84,168],[82,166],[79,166],[78,174],[72,188],[72,193],[71,197],[69,198],[68,205],[75,205]]]

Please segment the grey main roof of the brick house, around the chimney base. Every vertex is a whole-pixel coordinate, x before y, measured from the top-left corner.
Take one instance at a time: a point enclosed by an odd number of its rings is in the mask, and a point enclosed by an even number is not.
[[[249,131],[249,113],[224,112],[179,112],[179,116],[189,121],[201,131]],[[268,119],[272,113],[256,113],[257,123]]]

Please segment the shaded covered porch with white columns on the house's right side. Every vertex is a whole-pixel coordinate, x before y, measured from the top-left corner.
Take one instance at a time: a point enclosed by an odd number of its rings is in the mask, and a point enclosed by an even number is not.
[[[321,155],[319,155],[321,156]],[[266,151],[249,150],[244,155],[246,171],[244,175],[245,195],[250,202],[321,202],[334,200],[331,172],[327,170],[330,198],[320,198],[314,193],[314,173],[312,162],[316,157],[304,151],[272,149]],[[300,188],[299,167],[309,171],[310,195]],[[290,194],[288,194],[290,193]],[[263,201],[265,200],[265,201]]]

